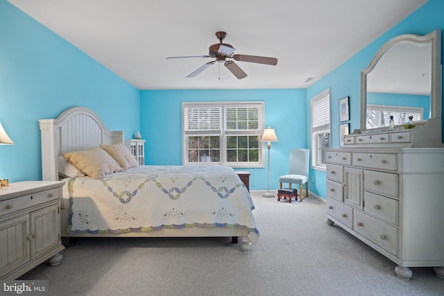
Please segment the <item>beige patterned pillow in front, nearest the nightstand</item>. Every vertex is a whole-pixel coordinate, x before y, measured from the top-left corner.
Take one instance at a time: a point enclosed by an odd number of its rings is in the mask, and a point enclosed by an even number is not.
[[[104,175],[122,170],[119,164],[100,147],[63,153],[63,157],[93,179],[100,179]]]

